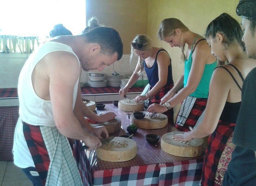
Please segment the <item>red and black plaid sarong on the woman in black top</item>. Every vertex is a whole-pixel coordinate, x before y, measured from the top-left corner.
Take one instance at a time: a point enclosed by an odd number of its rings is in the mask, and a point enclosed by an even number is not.
[[[209,136],[208,148],[206,149],[206,155],[202,171],[202,186],[214,185],[214,178],[219,159],[229,137],[234,132],[235,125],[235,123],[229,123],[219,120],[217,128],[215,129],[213,134]]]

